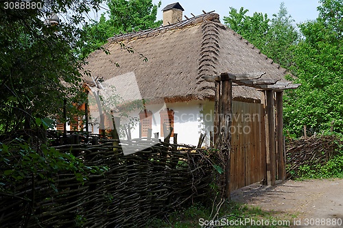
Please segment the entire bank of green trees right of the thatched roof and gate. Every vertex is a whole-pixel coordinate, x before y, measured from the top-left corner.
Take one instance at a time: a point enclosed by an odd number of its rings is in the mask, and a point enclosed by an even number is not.
[[[284,129],[288,134],[303,135],[343,129],[343,2],[320,0],[315,21],[298,25],[281,3],[278,14],[247,16],[231,8],[224,22],[250,41],[261,52],[281,64],[302,86],[285,91]]]

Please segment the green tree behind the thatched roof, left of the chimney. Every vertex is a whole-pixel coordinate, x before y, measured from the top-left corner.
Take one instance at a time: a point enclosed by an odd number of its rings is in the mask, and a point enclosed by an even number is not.
[[[159,27],[162,21],[156,21],[157,9],[152,0],[108,0],[108,19],[105,14],[99,21],[91,21],[84,26],[87,34],[86,45],[81,50],[81,57],[87,57],[96,49],[101,49],[107,39],[115,34],[128,33]]]

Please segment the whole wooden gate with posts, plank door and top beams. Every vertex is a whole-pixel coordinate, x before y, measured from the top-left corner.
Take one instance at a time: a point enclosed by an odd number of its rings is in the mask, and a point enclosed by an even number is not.
[[[276,177],[285,180],[283,90],[298,88],[300,84],[262,79],[263,75],[265,73],[221,73],[202,77],[215,82],[214,125],[220,131],[215,132],[213,141],[215,149],[220,148],[224,156],[223,189],[227,199],[231,190],[263,179],[263,183],[271,186],[275,185]],[[266,112],[262,104],[233,101],[233,83],[263,90]]]

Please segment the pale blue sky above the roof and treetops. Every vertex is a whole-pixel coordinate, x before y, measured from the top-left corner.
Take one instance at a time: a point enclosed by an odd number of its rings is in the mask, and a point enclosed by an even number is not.
[[[152,0],[152,3],[158,4],[159,0]],[[241,7],[249,10],[248,15],[252,16],[254,12],[262,12],[268,14],[268,18],[272,18],[272,14],[279,12],[281,2],[285,3],[288,14],[292,16],[296,23],[314,20],[318,16],[317,7],[320,5],[318,0],[161,0],[161,8],[158,9],[157,19],[162,19],[162,9],[171,3],[180,3],[185,9],[183,15],[191,17],[202,14],[202,10],[210,12],[215,10],[220,14],[220,21],[223,23],[224,16],[228,16],[230,7],[239,10]],[[185,18],[184,18],[185,19]]]

